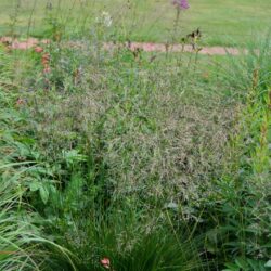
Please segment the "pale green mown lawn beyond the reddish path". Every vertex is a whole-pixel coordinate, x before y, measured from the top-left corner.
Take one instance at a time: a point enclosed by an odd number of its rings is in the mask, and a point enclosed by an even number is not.
[[[25,34],[31,17],[30,34],[46,36],[46,5],[48,0],[1,0],[0,34],[10,33],[11,15],[16,14],[21,2],[15,30]],[[101,11],[108,11],[122,36],[138,41],[165,42],[172,36],[176,11],[169,0],[134,0],[129,8],[127,1],[51,0],[57,17],[69,22],[70,30],[85,23],[91,29],[91,20]],[[102,2],[102,3],[101,3]],[[264,35],[271,25],[271,1],[269,0],[190,0],[191,9],[182,13],[178,30],[185,35],[197,27],[204,33],[205,44],[243,44]],[[33,14],[33,15],[31,15]]]

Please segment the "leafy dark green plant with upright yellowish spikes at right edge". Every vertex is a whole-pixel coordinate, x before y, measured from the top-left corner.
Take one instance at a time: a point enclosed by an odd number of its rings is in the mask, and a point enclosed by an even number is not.
[[[270,64],[270,46],[263,49],[259,54]],[[204,204],[207,225],[210,221],[214,224],[207,234],[207,249],[227,261],[236,258],[235,263],[227,266],[228,270],[266,270],[264,262],[271,255],[270,69],[259,65],[250,73],[240,128],[231,142],[231,162],[212,183]]]

